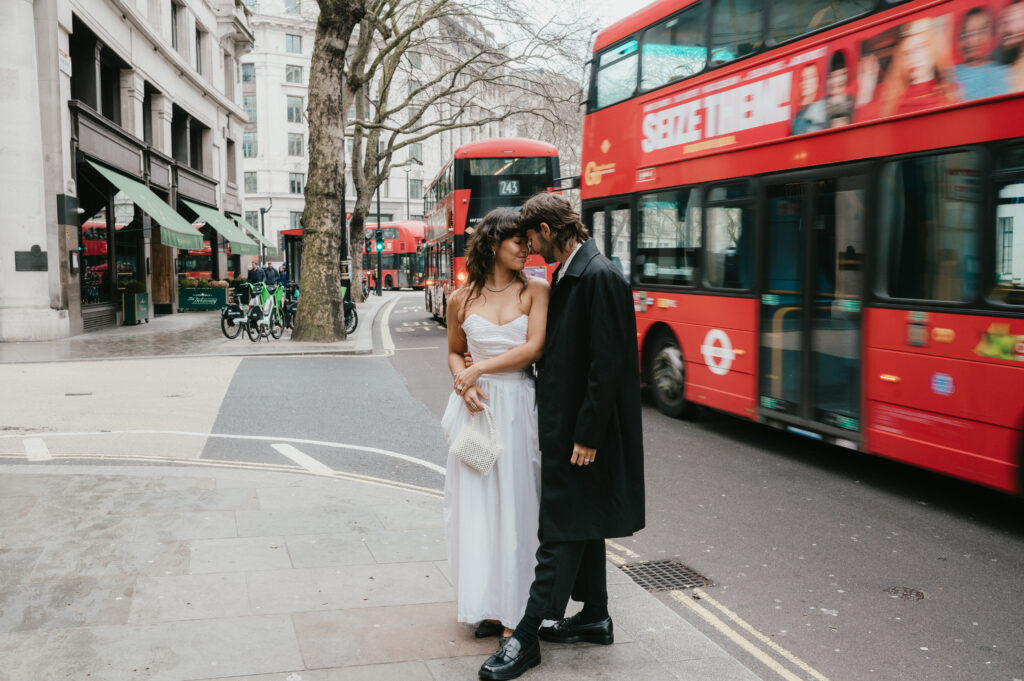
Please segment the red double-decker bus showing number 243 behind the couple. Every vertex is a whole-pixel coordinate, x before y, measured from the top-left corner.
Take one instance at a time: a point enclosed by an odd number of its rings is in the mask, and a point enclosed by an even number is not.
[[[544,142],[485,139],[456,150],[424,194],[428,312],[443,320],[449,296],[466,283],[466,228],[495,208],[518,208],[551,190],[557,178],[558,150]],[[526,259],[525,271],[550,281],[539,255]]]

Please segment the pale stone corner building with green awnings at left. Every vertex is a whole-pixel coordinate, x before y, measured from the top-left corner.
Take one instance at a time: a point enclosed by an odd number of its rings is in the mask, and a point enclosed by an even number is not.
[[[242,267],[212,224],[199,246],[182,225],[202,223],[185,202],[245,210],[252,42],[241,0],[0,2],[0,341],[118,324],[129,280],[147,318],[170,313],[204,241],[211,276]]]

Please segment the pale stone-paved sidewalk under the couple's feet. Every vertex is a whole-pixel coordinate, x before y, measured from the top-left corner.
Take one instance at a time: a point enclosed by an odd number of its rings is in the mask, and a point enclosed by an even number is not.
[[[441,499],[241,468],[0,468],[0,680],[440,681],[496,648],[455,622]],[[615,644],[523,677],[757,681],[609,564]]]

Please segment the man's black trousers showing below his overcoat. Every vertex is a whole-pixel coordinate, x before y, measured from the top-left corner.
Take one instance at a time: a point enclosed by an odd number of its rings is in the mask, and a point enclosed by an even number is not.
[[[537,570],[529,587],[526,614],[561,620],[569,596],[591,606],[607,607],[608,576],[603,539],[541,542]]]

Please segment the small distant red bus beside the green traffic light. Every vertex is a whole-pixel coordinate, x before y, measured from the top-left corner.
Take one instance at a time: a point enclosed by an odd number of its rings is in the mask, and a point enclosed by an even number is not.
[[[424,225],[419,220],[384,222],[380,233],[384,241],[381,258],[381,285],[388,291],[395,289],[421,289],[424,271]],[[362,279],[365,286],[377,286],[377,242],[378,227],[368,224],[362,231]]]

